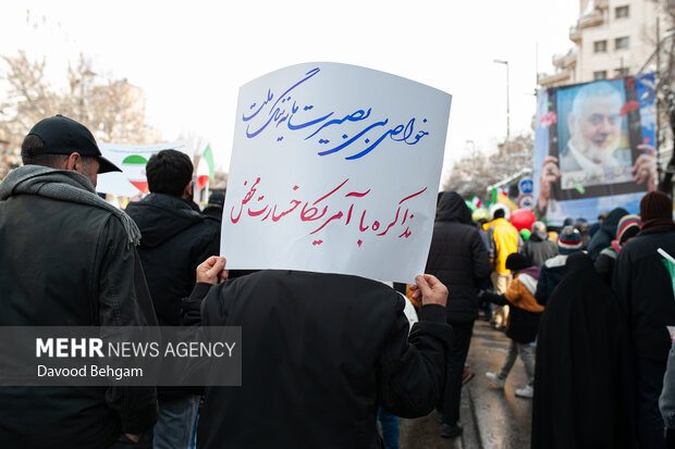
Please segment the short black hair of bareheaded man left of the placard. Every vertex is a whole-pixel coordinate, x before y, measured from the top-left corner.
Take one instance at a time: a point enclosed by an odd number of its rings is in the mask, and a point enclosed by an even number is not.
[[[181,197],[193,178],[193,163],[176,150],[162,150],[152,154],[145,169],[148,189],[152,194]]]

